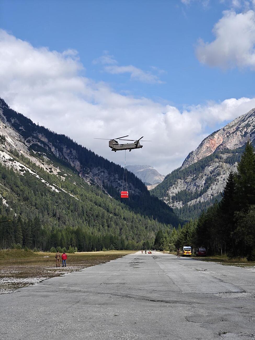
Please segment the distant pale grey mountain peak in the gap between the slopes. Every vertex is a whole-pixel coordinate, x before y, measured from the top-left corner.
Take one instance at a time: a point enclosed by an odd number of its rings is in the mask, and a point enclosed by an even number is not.
[[[161,183],[165,178],[150,165],[128,165],[126,168],[140,178],[147,188],[153,184]]]

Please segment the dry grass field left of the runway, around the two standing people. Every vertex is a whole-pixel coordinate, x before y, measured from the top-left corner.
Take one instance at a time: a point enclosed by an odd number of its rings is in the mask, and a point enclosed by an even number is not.
[[[31,286],[47,278],[62,276],[83,268],[115,260],[136,251],[113,250],[67,254],[67,267],[56,267],[55,253],[24,250],[0,251],[0,293],[14,292],[18,288]]]

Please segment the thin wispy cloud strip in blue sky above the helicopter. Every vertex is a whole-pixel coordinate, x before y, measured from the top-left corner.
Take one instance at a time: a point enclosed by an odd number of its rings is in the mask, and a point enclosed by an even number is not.
[[[117,65],[118,64],[117,60],[114,59],[113,55],[109,55],[108,51],[104,51],[104,54],[101,57],[95,59],[92,63],[93,64],[101,63],[102,65],[104,65],[104,71],[111,73],[111,74],[129,73],[130,79],[137,80],[142,83],[147,83],[147,84],[164,83],[158,78],[157,75],[153,74],[150,71],[143,71],[140,68],[135,67],[133,65],[127,65],[127,66]],[[164,73],[162,72],[163,70],[160,70],[155,66],[152,66],[151,69],[153,71],[156,71],[159,74]]]

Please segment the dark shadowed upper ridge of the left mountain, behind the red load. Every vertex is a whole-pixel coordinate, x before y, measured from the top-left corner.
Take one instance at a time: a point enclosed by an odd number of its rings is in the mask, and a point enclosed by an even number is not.
[[[36,152],[42,160],[46,156],[57,166],[67,166],[78,173],[87,183],[96,185],[105,192],[111,192],[120,200],[123,168],[98,156],[91,150],[78,145],[65,135],[56,134],[44,126],[36,125],[29,118],[10,109],[0,99],[0,107],[6,121],[23,137],[30,153]],[[18,150],[19,151],[19,150]],[[57,170],[58,171],[58,170]],[[61,172],[59,173],[61,175]],[[165,203],[151,197],[146,186],[132,172],[128,172],[129,200],[122,203],[129,205],[136,212],[145,216],[154,216],[162,223],[178,224],[179,219]]]

